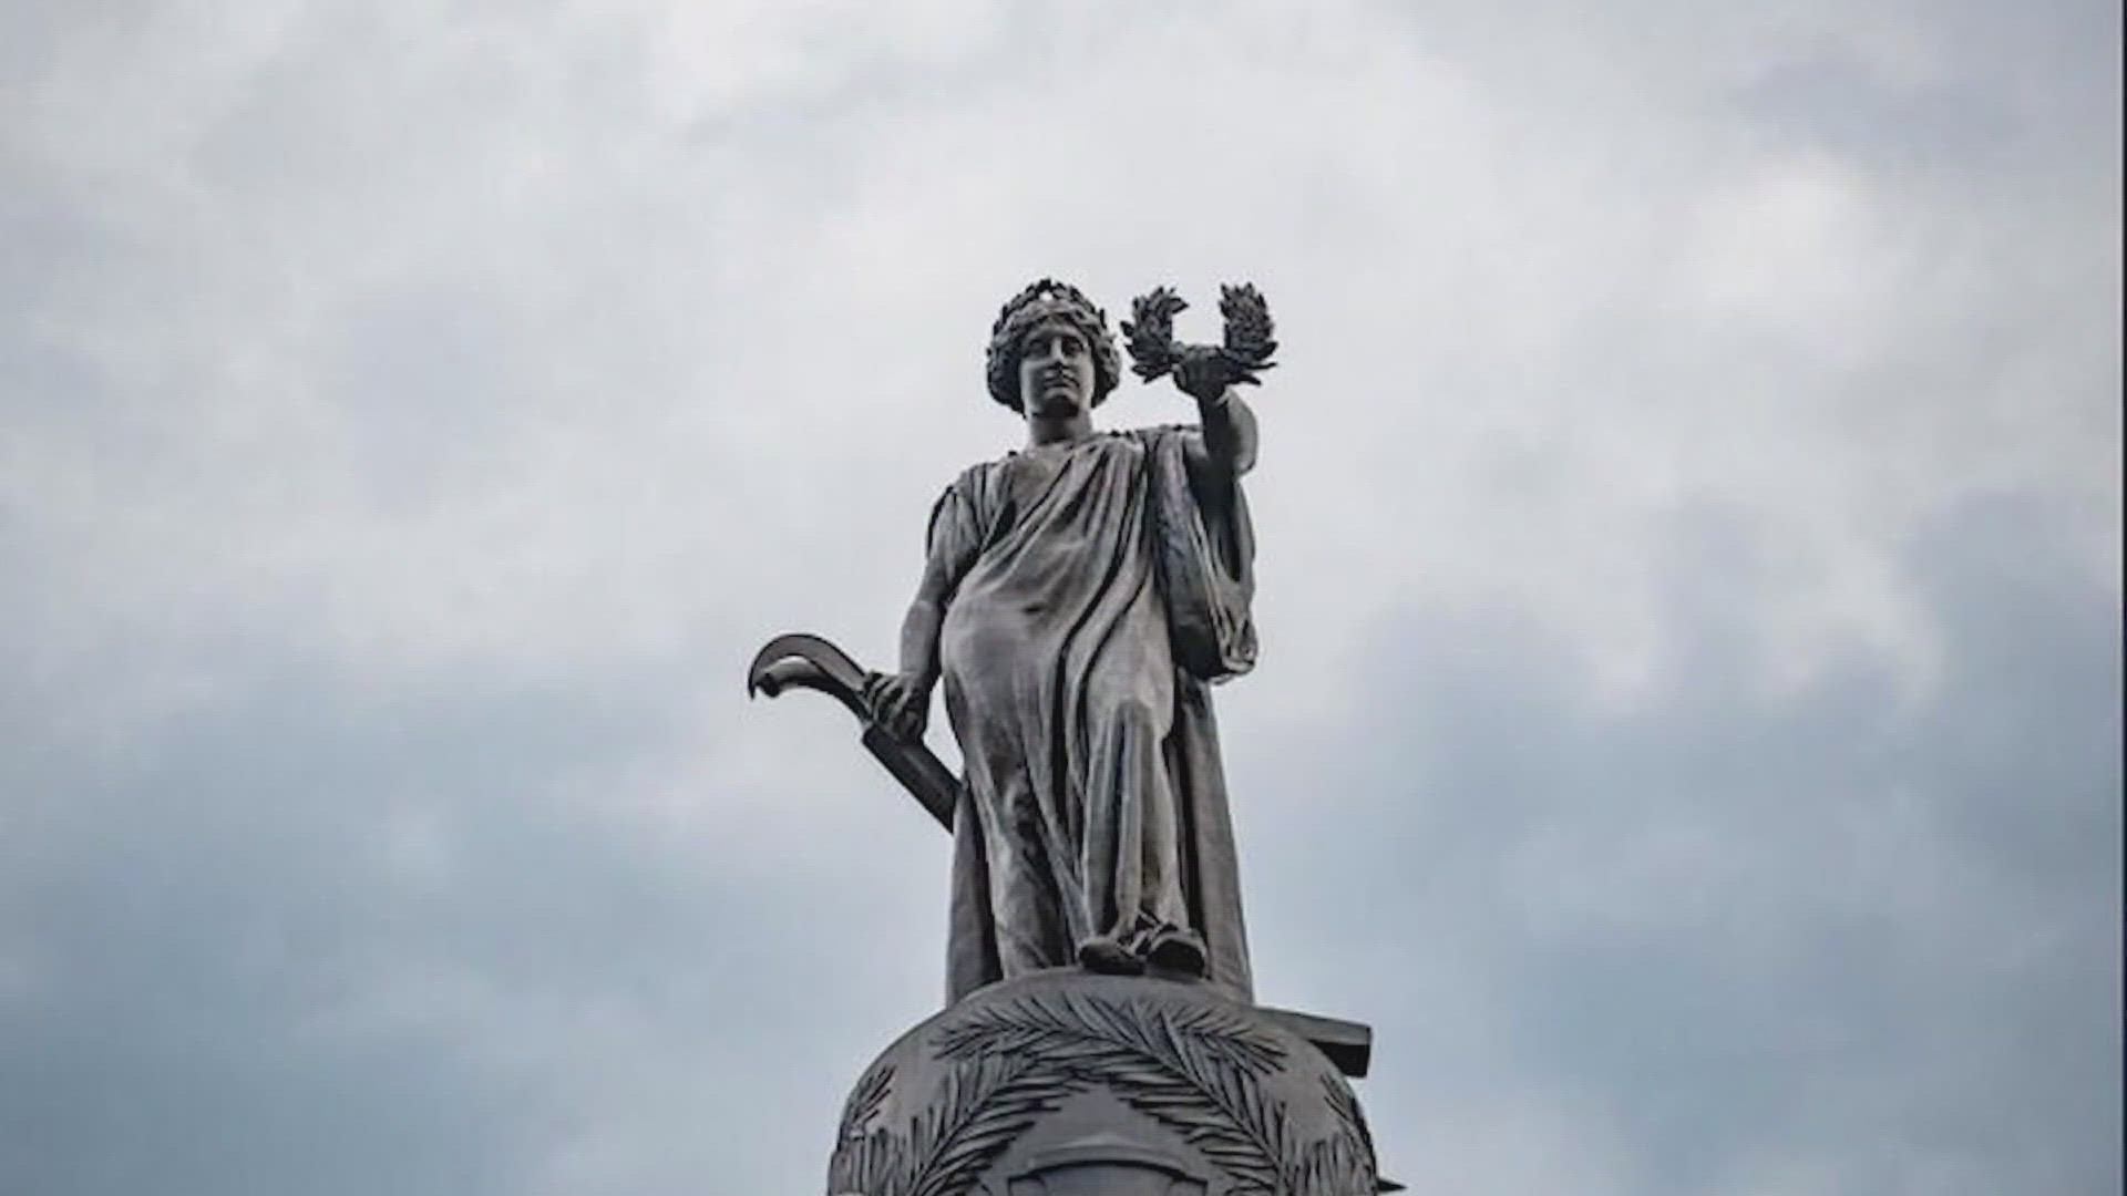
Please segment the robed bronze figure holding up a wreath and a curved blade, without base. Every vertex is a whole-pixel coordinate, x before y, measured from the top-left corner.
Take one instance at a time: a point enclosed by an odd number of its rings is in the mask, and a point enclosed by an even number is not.
[[[1225,345],[1172,340],[1159,287],[1123,321],[1134,368],[1172,375],[1195,426],[1095,432],[1121,381],[1106,315],[1042,279],[991,326],[989,396],[1027,443],[959,475],[929,517],[900,670],[840,658],[866,743],[955,834],[949,998],[1040,968],[1159,966],[1251,992],[1208,685],[1255,662],[1255,545],[1240,479],[1255,417],[1234,392],[1276,351],[1255,287],[1227,287]],[[808,641],[808,643],[806,643]],[[934,687],[966,760],[921,751]],[[819,685],[830,687],[834,685]]]

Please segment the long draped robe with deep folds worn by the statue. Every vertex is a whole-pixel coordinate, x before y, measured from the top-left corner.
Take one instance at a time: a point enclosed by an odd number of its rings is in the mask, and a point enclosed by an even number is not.
[[[932,511],[953,579],[940,679],[966,781],[947,996],[1187,928],[1251,996],[1210,683],[1255,664],[1238,481],[1198,428],[1108,432],[966,470]]]

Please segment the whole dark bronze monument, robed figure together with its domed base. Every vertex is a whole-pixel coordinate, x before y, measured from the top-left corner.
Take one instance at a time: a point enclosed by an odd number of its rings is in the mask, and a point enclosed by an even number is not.
[[[1257,423],[1236,387],[1276,340],[1251,285],[1225,287],[1221,345],[1178,345],[1185,309],[1159,287],[1123,332],[1198,419],[1100,432],[1121,381],[1106,315],[1053,279],[1008,300],[987,389],[1025,445],[932,506],[898,668],[789,634],[749,670],[849,707],[955,838],[949,1009],[851,1096],[832,1192],[1393,1187],[1342,1079],[1370,1032],[1253,1004],[1210,687],[1257,653]],[[961,777],[923,745],[938,690]]]

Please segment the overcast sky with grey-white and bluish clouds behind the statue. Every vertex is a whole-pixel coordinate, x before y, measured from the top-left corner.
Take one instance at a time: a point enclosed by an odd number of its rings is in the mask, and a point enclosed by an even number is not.
[[[819,1192],[947,843],[742,666],[889,660],[1057,275],[1278,317],[1385,1170],[2118,1192],[2118,6],[1506,9],[0,0],[0,1190]]]

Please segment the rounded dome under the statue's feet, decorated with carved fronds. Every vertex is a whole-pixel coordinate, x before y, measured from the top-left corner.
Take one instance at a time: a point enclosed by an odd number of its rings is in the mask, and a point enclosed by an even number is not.
[[[1221,990],[1059,968],[991,985],[857,1081],[830,1196],[1370,1196],[1338,1066]]]

